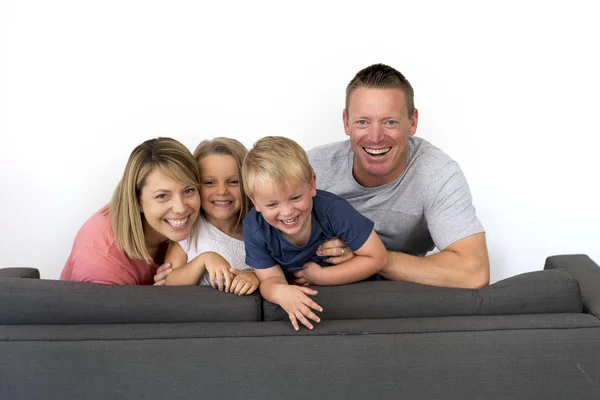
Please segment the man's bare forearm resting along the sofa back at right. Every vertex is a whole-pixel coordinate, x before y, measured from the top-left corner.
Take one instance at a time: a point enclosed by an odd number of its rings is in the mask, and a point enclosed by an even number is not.
[[[444,250],[425,257],[388,251],[388,261],[379,272],[391,280],[430,286],[480,288],[489,283],[489,262],[485,257],[465,257]]]

